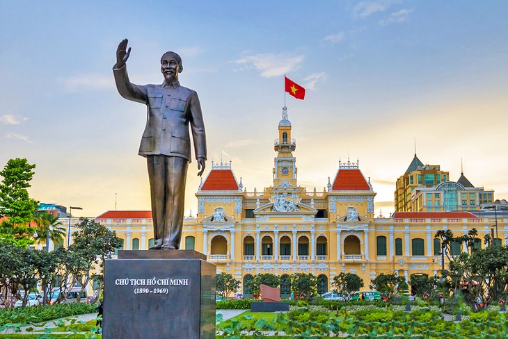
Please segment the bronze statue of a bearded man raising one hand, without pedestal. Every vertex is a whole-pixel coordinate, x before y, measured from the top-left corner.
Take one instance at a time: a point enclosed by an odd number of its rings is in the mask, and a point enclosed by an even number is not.
[[[184,220],[184,194],[187,166],[191,162],[191,125],[194,151],[198,160],[198,176],[205,170],[207,147],[205,125],[198,94],[180,86],[178,74],[183,70],[182,58],[166,52],[161,57],[161,85],[135,85],[129,81],[125,63],[131,53],[128,40],[116,50],[113,66],[116,88],[122,97],[145,104],[148,108],[146,127],[139,155],[148,163],[148,179],[152,197],[155,245],[150,249],[178,249]]]

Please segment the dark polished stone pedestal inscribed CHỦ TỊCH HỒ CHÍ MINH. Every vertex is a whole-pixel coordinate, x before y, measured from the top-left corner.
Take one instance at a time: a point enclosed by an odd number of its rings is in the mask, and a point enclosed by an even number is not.
[[[216,266],[205,259],[151,250],[107,260],[102,338],[215,338]]]

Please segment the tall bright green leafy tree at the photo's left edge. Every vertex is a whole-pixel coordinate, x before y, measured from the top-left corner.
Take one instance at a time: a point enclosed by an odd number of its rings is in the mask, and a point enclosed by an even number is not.
[[[30,222],[35,212],[37,201],[30,199],[30,181],[33,178],[35,165],[26,159],[10,159],[0,176],[0,241],[27,246],[33,243],[31,235],[35,229]]]

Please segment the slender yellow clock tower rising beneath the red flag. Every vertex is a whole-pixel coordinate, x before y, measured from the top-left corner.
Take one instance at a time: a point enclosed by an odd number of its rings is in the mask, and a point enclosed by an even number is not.
[[[273,148],[277,152],[273,168],[273,187],[296,188],[296,158],[292,151],[296,143],[291,138],[291,122],[287,119],[287,107],[283,107],[283,118],[278,123],[278,139]]]

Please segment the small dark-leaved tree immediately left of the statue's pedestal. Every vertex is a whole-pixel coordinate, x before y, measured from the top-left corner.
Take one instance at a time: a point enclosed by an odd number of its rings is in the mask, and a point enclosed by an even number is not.
[[[85,272],[80,268],[78,272],[74,272],[74,279],[80,279],[82,292],[90,282],[93,264],[99,265],[100,285],[97,295],[100,295],[104,286],[104,261],[106,258],[111,258],[111,252],[122,246],[123,240],[116,236],[115,231],[111,231],[95,220],[81,219],[76,227],[78,231],[72,234],[73,243],[69,249],[81,256],[88,263],[87,265],[90,265],[90,270]],[[80,266],[77,265],[77,267]],[[79,272],[83,274],[79,276]]]

